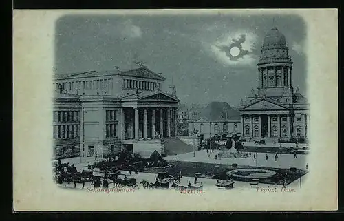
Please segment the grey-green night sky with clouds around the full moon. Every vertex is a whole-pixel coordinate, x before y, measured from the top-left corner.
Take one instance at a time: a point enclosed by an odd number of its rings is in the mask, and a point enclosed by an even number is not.
[[[266,33],[286,36],[292,81],[305,94],[305,23],[291,16],[65,16],[56,22],[56,73],[135,67],[144,61],[173,83],[182,103],[226,101],[237,106],[257,87],[257,59]],[[240,52],[230,53],[233,45]],[[168,89],[166,89],[168,90]]]

